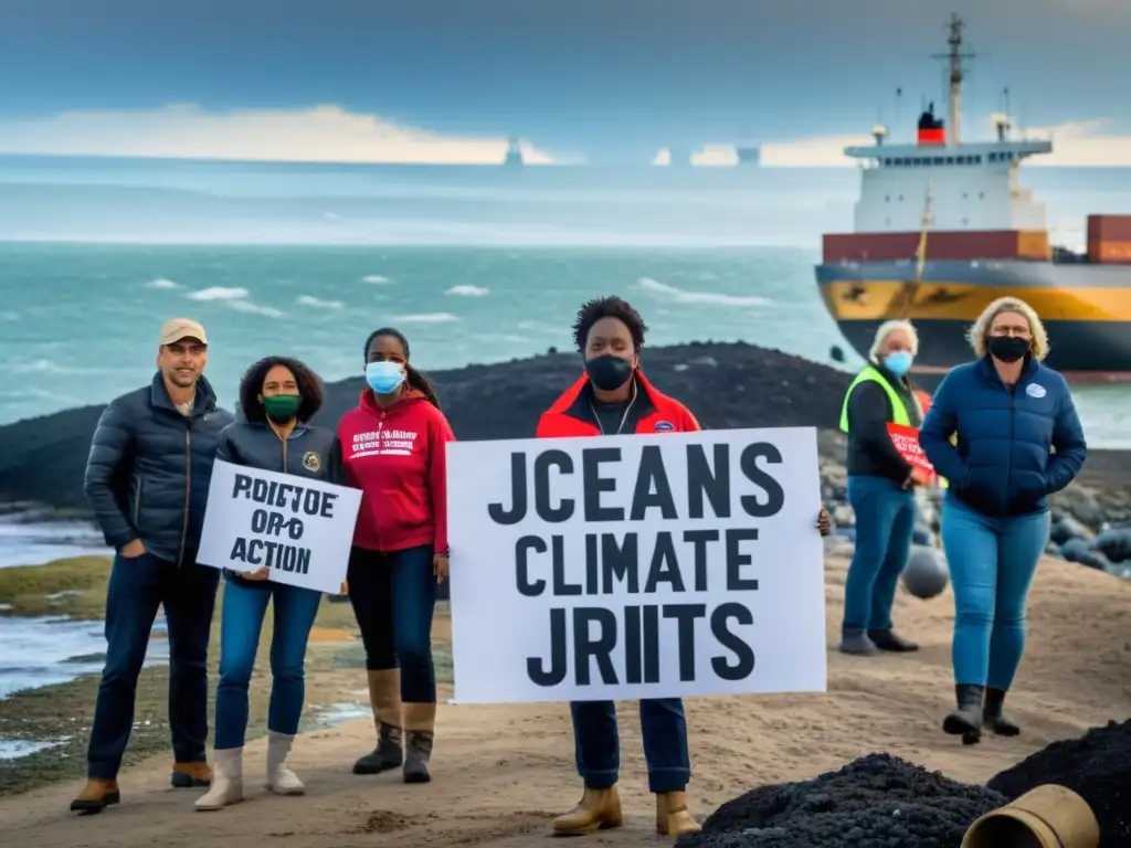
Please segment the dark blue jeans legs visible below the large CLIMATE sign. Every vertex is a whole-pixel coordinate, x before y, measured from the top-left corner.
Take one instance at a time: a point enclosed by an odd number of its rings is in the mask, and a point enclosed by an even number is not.
[[[612,701],[571,701],[577,773],[589,789],[608,789],[621,767],[616,707]],[[642,699],[640,735],[648,763],[648,791],[683,791],[691,779],[688,721],[679,698]]]

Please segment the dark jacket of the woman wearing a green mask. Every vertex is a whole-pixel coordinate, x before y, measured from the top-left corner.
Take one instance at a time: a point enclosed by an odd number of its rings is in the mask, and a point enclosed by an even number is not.
[[[342,482],[342,449],[333,430],[300,424],[286,440],[270,425],[238,421],[224,427],[216,459],[277,474],[294,474],[327,483]],[[252,588],[268,588],[269,581],[244,580],[224,569],[228,580]]]

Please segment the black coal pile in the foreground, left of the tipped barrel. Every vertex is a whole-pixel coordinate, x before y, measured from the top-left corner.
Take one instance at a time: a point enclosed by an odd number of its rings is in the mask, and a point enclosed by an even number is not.
[[[812,780],[728,801],[679,848],[959,848],[1005,799],[891,756],[869,754]]]

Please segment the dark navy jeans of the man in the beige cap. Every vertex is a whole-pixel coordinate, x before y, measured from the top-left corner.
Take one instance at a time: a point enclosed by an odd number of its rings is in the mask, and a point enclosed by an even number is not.
[[[145,553],[114,556],[106,589],[106,664],[98,684],[87,775],[114,780],[133,727],[138,676],[164,606],[169,625],[169,726],[179,763],[202,762],[208,737],[208,640],[219,571]]]

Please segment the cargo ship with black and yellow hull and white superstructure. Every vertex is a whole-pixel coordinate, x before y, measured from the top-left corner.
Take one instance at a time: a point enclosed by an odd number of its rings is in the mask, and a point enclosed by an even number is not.
[[[861,163],[861,194],[854,232],[823,236],[824,305],[861,356],[880,323],[913,321],[914,378],[927,388],[973,357],[966,330],[1003,295],[1042,317],[1046,362],[1070,380],[1131,380],[1131,215],[1089,216],[1083,253],[1050,243],[1020,165],[1052,153],[1052,141],[1013,138],[1008,114],[995,118],[995,139],[961,140],[962,29],[953,16],[948,120],[932,104],[915,144],[889,144],[877,126],[874,144],[845,149]]]

